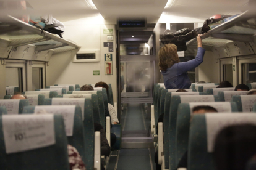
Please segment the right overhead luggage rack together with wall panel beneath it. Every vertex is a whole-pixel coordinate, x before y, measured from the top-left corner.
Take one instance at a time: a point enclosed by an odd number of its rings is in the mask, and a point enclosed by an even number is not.
[[[256,11],[247,10],[216,26],[201,36],[203,46],[210,46],[216,58],[256,54]],[[195,46],[194,38],[186,43]]]

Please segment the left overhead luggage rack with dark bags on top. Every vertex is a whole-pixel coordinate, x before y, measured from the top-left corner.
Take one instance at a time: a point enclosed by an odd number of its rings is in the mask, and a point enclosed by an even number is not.
[[[4,22],[0,22],[0,41],[5,44],[4,48],[0,50],[0,53],[5,54],[0,56],[1,58],[10,58],[8,52],[17,50],[14,47],[20,47],[22,49],[29,47],[36,54],[45,51],[40,54],[40,57],[23,58],[28,60],[49,60],[49,57],[42,57],[41,55],[46,52],[48,54],[56,54],[80,49],[80,46],[74,42],[43,31],[10,15],[4,18]]]

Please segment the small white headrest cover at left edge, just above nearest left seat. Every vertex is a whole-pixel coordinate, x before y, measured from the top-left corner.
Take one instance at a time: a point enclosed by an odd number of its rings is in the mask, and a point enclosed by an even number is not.
[[[8,115],[19,114],[19,105],[20,100],[17,99],[0,100],[0,106],[6,107]]]

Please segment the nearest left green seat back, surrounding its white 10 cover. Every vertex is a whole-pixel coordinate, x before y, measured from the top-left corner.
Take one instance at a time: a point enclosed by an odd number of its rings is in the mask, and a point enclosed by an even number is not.
[[[19,115],[19,117],[20,116],[25,115]],[[67,137],[65,134],[63,118],[61,115],[54,115],[54,134],[56,143],[53,145],[23,152],[7,154],[6,145],[3,140],[4,133],[2,116],[0,116],[0,137],[2,139],[0,140],[0,169],[69,170]]]

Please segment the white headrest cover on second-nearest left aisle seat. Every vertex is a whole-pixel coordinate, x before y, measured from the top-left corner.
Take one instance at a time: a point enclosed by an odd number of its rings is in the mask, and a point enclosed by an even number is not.
[[[72,106],[36,106],[35,113],[46,111],[56,115],[62,115],[65,124],[65,131],[67,136],[73,136],[75,105]]]

